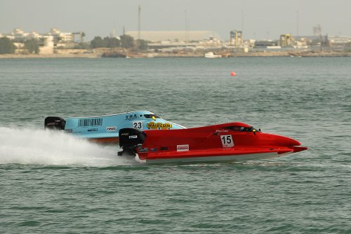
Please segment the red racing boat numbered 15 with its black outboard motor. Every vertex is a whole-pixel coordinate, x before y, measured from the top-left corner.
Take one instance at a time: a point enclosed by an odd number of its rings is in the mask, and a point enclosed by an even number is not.
[[[289,137],[260,132],[245,123],[177,130],[119,130],[119,155],[140,163],[225,162],[276,158],[307,147]]]

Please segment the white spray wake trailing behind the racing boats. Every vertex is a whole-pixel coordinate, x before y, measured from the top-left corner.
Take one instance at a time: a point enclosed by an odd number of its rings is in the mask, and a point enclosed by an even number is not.
[[[130,165],[116,146],[100,146],[64,132],[0,127],[0,164]]]

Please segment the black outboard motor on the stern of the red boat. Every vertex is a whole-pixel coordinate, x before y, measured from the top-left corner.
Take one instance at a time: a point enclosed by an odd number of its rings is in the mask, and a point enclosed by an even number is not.
[[[118,152],[119,156],[135,156],[136,147],[143,144],[146,134],[135,128],[122,128],[119,130],[119,146],[123,151]]]

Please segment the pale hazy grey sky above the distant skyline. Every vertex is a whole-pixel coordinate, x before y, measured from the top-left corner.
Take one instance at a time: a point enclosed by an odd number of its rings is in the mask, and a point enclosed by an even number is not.
[[[123,27],[138,30],[139,5],[141,30],[185,30],[187,18],[190,30],[214,31],[223,40],[242,25],[244,39],[312,35],[317,25],[322,34],[351,36],[350,0],[0,0],[0,33],[56,27],[83,31],[88,40],[109,36],[113,28],[121,35]]]

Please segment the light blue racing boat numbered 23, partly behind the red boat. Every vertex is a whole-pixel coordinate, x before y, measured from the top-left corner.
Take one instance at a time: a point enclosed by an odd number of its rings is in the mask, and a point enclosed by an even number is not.
[[[185,127],[166,121],[150,111],[131,111],[91,117],[61,118],[49,116],[45,118],[44,128],[64,130],[69,134],[86,138],[92,142],[118,144],[121,128],[160,130]]]

